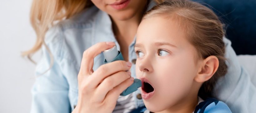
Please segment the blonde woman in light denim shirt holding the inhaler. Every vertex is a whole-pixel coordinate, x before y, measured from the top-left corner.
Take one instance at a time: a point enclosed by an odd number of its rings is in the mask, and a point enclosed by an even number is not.
[[[142,15],[160,2],[34,0],[31,23],[37,42],[23,54],[30,58],[42,47],[43,56],[36,67],[31,112],[130,112],[144,106],[139,90],[125,97],[119,94],[135,77],[134,37]],[[225,40],[225,43],[228,59],[237,62],[230,42]],[[101,51],[115,44],[127,62],[103,65]],[[232,65],[229,68],[235,70]],[[130,73],[125,72],[128,69]],[[231,74],[228,72],[226,76]],[[239,76],[231,78],[238,80]],[[224,85],[216,89],[236,87],[236,83]],[[232,99],[223,99],[230,94],[222,91],[217,97],[229,105]]]

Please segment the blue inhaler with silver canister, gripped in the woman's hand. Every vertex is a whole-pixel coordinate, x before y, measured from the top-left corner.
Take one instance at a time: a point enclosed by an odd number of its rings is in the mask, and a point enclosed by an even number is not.
[[[124,60],[122,53],[117,50],[116,46],[112,47],[111,49],[103,51],[103,55],[105,57],[105,64],[116,60]],[[126,96],[132,92],[135,92],[139,87],[141,87],[140,79],[134,79],[133,84],[130,85],[127,89],[125,89],[120,95]]]

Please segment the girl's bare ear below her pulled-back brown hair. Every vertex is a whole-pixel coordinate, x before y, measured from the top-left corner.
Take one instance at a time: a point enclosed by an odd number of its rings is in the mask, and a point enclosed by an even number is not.
[[[199,83],[209,80],[219,67],[219,59],[216,56],[209,56],[203,60],[194,80]]]

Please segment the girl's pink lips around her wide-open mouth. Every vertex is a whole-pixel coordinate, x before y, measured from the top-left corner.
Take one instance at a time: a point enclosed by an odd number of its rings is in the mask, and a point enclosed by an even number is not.
[[[142,86],[141,86],[141,89],[142,89],[141,97],[143,99],[145,99],[145,100],[146,99],[150,99],[154,95],[154,93],[155,93],[155,88],[151,85],[150,81],[147,80],[146,78],[142,77],[142,78],[140,78],[140,80],[141,80],[141,84],[142,84]],[[152,91],[150,93],[145,92],[145,90],[144,90],[144,82],[149,83],[154,88],[154,91]]]

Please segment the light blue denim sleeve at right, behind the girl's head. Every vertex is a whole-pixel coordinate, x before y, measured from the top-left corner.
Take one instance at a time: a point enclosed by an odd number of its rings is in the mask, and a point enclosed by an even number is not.
[[[231,42],[227,38],[224,42],[228,72],[217,81],[214,97],[225,102],[233,113],[255,112],[256,88],[248,72],[239,64]]]

